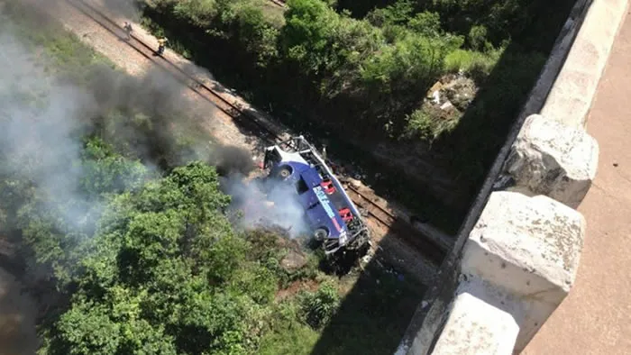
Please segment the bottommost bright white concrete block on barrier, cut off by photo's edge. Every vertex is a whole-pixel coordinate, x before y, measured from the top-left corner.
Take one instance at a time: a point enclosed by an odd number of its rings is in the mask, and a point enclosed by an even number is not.
[[[510,355],[519,325],[519,302],[480,278],[463,281],[433,355]]]

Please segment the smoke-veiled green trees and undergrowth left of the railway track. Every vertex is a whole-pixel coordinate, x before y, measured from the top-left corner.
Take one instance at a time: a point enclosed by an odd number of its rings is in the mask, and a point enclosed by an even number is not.
[[[168,88],[104,67],[22,10],[4,9],[18,25],[0,15],[0,30],[31,49],[0,86],[0,238],[20,246],[21,276],[38,296],[41,354],[395,349],[414,283],[370,269],[380,284],[362,279],[343,302],[355,276],[325,275],[315,254],[282,267],[297,244],[233,230],[215,168],[190,149],[200,130],[168,109]],[[74,86],[94,95],[87,109]],[[133,98],[117,91],[130,88]]]

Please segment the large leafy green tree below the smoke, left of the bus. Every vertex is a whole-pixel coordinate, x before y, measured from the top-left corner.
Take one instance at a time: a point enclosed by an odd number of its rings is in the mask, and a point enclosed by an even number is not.
[[[278,280],[245,259],[248,243],[222,212],[228,203],[201,162],[116,196],[41,352],[251,352]]]

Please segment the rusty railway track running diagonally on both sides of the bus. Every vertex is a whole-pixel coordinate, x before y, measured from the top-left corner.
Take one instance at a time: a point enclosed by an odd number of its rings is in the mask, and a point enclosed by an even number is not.
[[[87,4],[82,0],[66,0],[66,2],[82,14],[87,15],[87,17],[98,23],[105,30],[114,34],[114,36],[122,39],[125,37],[123,27],[115,23],[95,6]],[[276,3],[276,1],[273,2]],[[267,124],[262,123],[254,114],[245,110],[242,105],[231,102],[212,87],[207,86],[196,77],[193,77],[182,68],[179,68],[178,65],[174,64],[169,59],[157,55],[153,46],[142,41],[137,36],[133,35],[133,33],[131,34],[131,39],[125,42],[133,48],[133,50],[139,52],[143,57],[150,59],[151,62],[159,68],[162,68],[175,77],[180,83],[193,90],[198,96],[201,96],[212,105],[215,105],[215,107],[224,112],[224,114],[233,117],[233,119],[240,123],[250,125],[252,129],[260,133],[258,134],[260,138],[273,144],[284,141],[278,133],[274,132]],[[355,187],[349,185],[346,187],[346,191],[352,198],[353,203],[367,211],[370,218],[388,228],[390,231],[395,232],[402,241],[405,241],[408,245],[418,250],[435,266],[440,265],[446,255],[446,250],[438,243],[416,230],[416,228],[405,219],[399,218],[395,214],[390,213],[386,208],[372,201],[370,196],[362,194],[361,191]]]

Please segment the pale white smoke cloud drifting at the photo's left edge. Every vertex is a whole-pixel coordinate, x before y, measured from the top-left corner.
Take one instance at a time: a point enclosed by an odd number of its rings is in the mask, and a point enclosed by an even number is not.
[[[38,59],[39,60],[39,59]],[[28,179],[51,202],[81,201],[80,138],[92,96],[50,77],[29,50],[7,32],[0,34],[0,152],[3,176]],[[69,221],[86,211],[63,208]]]

